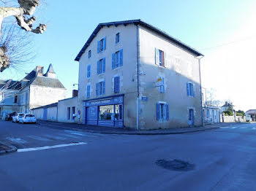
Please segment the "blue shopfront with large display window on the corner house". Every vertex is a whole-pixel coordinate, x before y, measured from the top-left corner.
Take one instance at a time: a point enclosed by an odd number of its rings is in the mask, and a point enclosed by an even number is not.
[[[86,125],[124,127],[124,95],[86,100],[83,111]]]

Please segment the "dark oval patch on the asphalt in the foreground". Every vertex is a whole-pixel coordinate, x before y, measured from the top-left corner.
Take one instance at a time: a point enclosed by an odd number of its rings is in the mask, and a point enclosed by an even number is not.
[[[170,171],[192,171],[195,168],[194,164],[190,164],[183,160],[157,160],[157,165]]]

